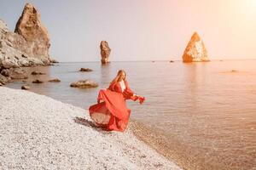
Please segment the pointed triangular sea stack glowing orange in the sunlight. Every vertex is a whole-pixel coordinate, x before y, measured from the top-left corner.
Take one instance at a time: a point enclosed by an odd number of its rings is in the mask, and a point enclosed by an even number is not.
[[[209,61],[207,49],[201,37],[195,32],[183,54],[183,62]]]

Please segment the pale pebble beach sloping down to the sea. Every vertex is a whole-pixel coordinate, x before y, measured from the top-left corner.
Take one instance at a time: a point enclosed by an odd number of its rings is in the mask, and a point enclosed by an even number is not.
[[[106,132],[86,110],[47,96],[0,87],[0,167],[181,169],[125,133]]]

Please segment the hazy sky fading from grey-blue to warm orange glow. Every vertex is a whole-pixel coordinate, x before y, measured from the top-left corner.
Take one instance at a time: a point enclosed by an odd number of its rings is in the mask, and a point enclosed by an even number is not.
[[[38,8],[60,61],[182,59],[197,31],[210,59],[256,59],[256,0],[0,0],[14,31],[25,3]]]

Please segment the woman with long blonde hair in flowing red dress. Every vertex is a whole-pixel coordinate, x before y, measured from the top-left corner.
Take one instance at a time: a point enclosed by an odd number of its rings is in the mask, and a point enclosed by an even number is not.
[[[125,100],[139,100],[140,104],[143,104],[145,99],[131,91],[125,77],[125,71],[118,71],[108,89],[99,91],[97,104],[89,108],[91,119],[106,130],[124,131],[131,114]]]

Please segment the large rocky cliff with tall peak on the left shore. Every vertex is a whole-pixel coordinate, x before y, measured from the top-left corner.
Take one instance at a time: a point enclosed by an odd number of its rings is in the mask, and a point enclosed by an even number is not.
[[[0,68],[50,65],[49,35],[38,10],[26,3],[15,32],[0,20]]]

